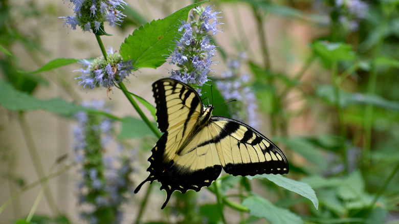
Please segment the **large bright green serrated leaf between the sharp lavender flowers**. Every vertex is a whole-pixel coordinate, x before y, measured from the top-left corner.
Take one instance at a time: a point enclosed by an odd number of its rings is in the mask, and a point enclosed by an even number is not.
[[[124,60],[132,59],[134,68],[157,68],[165,62],[165,55],[173,50],[181,21],[186,21],[189,11],[204,2],[187,6],[175,13],[158,20],[152,20],[131,35],[121,44],[120,54]]]

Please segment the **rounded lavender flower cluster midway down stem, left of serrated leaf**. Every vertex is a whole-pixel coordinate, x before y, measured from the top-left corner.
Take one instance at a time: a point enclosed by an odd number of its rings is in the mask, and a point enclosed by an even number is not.
[[[85,66],[80,69],[82,74],[75,78],[78,80],[78,85],[83,85],[83,88],[106,87],[110,89],[115,83],[127,79],[133,66],[131,60],[123,61],[122,56],[114,54],[112,48],[107,50],[107,59],[103,56],[88,61],[83,59],[79,63]],[[75,72],[75,71],[74,71]]]

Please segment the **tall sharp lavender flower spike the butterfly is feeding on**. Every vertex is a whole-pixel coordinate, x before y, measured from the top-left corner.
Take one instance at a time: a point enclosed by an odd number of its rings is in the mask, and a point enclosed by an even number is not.
[[[182,21],[179,28],[182,35],[175,41],[169,64],[177,65],[180,70],[171,70],[170,77],[189,84],[201,94],[201,86],[208,81],[208,73],[212,71],[211,59],[216,51],[207,33],[211,31],[215,35],[221,32],[216,26],[222,23],[217,21],[220,17],[216,16],[221,12],[212,11],[210,6],[197,7],[194,12],[200,17],[196,20],[191,14],[191,22]]]

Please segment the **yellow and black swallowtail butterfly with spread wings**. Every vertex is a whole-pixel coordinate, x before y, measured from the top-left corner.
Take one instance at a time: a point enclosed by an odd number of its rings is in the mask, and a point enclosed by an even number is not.
[[[149,181],[166,191],[165,208],[173,191],[200,191],[219,176],[223,168],[231,175],[285,174],[284,154],[268,138],[247,124],[211,116],[213,106],[204,106],[190,86],[170,78],[152,84],[157,104],[157,122],[163,136],[148,159]]]

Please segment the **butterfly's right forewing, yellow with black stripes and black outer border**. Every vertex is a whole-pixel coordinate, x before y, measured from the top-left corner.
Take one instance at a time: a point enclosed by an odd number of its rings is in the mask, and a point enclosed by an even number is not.
[[[213,116],[208,125],[224,170],[231,175],[286,174],[282,151],[257,130],[242,122]]]

